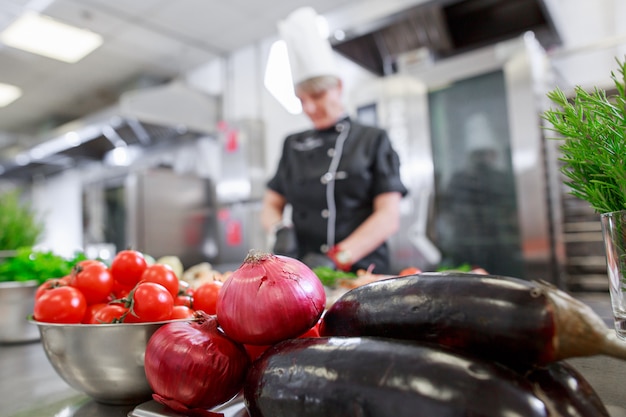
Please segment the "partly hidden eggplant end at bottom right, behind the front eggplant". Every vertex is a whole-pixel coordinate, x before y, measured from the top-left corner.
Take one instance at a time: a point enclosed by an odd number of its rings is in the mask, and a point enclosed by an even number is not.
[[[525,376],[546,407],[559,416],[610,417],[591,384],[567,362],[537,366],[530,369]]]

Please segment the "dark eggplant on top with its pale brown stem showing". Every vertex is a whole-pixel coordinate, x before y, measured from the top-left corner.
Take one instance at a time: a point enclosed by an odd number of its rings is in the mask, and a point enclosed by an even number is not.
[[[326,311],[320,334],[432,343],[520,369],[596,354],[626,359],[626,342],[566,292],[471,273],[421,273],[350,290]]]

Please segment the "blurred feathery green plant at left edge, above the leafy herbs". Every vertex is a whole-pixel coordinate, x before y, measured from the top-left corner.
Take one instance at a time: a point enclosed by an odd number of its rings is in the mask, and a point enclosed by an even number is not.
[[[0,195],[0,250],[34,246],[43,231],[33,207],[20,201],[19,190]]]

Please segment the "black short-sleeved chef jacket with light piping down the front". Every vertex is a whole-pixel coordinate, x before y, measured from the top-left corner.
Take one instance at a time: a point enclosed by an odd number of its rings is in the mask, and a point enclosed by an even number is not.
[[[326,130],[288,136],[268,188],[293,207],[298,257],[326,253],[373,212],[374,198],[407,189],[400,161],[382,129],[344,119]],[[333,227],[334,225],[334,227]],[[353,266],[390,273],[389,249],[382,244]]]

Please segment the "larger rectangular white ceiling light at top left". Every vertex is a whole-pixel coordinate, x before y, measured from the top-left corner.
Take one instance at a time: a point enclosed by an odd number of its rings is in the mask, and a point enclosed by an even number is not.
[[[102,36],[28,12],[0,34],[0,41],[13,48],[75,63],[102,45]]]

